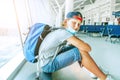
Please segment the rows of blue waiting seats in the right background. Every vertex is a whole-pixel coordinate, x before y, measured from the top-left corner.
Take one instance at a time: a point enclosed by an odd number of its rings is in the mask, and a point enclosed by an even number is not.
[[[101,37],[106,36],[106,41],[113,43],[120,41],[120,25],[82,25],[80,31],[87,34],[98,33]]]

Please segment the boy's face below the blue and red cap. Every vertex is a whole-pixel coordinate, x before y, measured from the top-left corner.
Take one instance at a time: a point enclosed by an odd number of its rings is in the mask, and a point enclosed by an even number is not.
[[[81,25],[81,21],[74,18],[69,19],[67,22],[67,26],[71,27],[75,31],[78,31],[80,29],[80,25]]]

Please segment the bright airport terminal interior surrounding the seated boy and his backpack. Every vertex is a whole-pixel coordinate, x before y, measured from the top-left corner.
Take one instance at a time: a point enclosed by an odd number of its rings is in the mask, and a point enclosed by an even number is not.
[[[82,13],[75,35],[88,43],[98,67],[120,80],[120,0],[0,0],[0,80],[37,80],[38,64],[26,61],[23,47],[36,23],[62,26],[68,12]],[[53,80],[97,80],[78,62],[53,73]]]

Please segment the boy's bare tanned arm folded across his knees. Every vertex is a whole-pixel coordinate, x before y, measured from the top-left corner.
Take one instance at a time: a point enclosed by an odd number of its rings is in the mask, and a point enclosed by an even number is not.
[[[73,46],[77,47],[80,51],[86,52],[91,51],[91,47],[87,43],[85,43],[84,41],[75,36],[68,38],[67,41],[71,43]]]

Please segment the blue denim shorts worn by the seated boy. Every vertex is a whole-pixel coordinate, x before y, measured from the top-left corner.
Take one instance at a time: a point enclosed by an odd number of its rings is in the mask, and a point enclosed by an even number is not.
[[[81,61],[79,50],[75,47],[63,48],[53,61],[42,67],[42,71],[52,73],[76,61]]]

